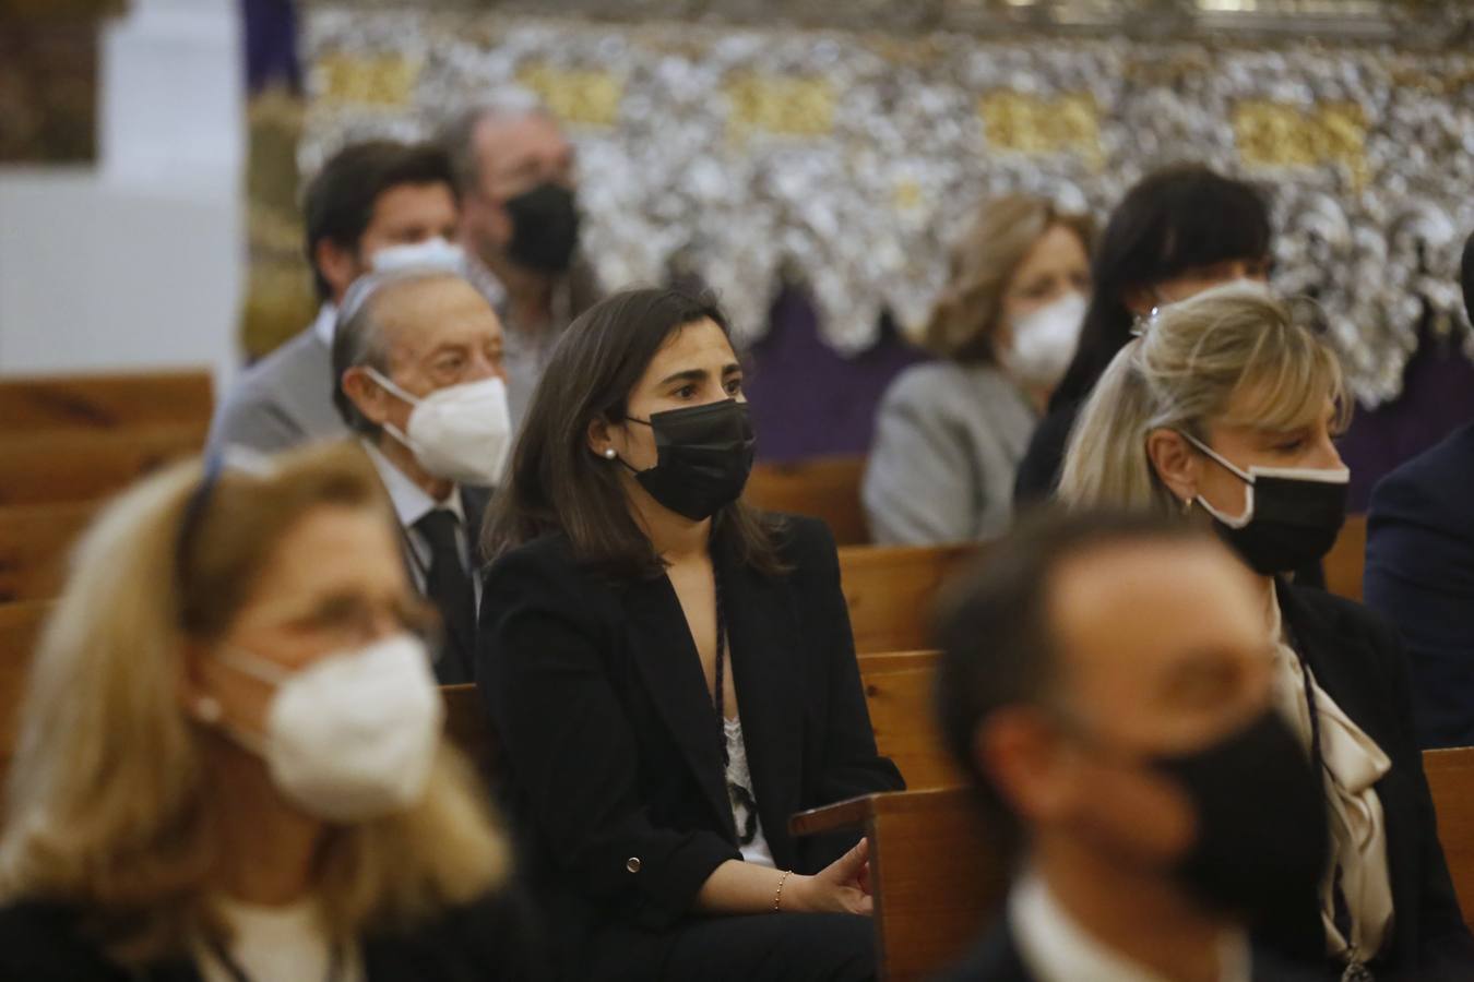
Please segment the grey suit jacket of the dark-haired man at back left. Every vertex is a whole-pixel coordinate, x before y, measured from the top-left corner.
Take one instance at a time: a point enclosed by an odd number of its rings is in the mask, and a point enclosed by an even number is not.
[[[248,368],[209,427],[209,449],[243,445],[276,452],[348,436],[333,406],[333,359],[308,327]]]

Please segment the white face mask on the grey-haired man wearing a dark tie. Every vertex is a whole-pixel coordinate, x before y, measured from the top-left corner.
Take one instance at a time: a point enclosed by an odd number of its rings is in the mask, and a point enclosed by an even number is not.
[[[373,368],[368,377],[408,402],[408,433],[385,424],[385,431],[410,448],[430,474],[476,487],[501,483],[511,451],[511,409],[501,378],[483,378],[411,396]]]

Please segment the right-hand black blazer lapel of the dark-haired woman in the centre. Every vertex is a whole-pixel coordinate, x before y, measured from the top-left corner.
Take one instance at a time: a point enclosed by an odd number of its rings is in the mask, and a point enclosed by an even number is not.
[[[768,845],[775,852],[792,852],[789,817],[802,799],[803,652],[794,651],[802,643],[802,626],[780,583],[740,565],[724,549],[716,561],[758,816]],[[794,857],[775,858],[780,866],[792,866]]]

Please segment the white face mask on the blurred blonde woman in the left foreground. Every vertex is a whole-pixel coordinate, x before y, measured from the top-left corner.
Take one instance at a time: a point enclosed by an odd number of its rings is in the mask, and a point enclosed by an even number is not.
[[[276,688],[265,738],[224,729],[258,754],[277,789],[327,822],[404,811],[425,795],[445,707],[425,643],[395,635],[290,671],[242,649],[215,655]]]

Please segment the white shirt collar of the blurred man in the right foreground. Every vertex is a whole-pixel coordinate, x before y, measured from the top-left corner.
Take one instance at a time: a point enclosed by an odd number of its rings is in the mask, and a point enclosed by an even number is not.
[[[1092,938],[1032,873],[1010,892],[1008,920],[1019,955],[1039,982],[1167,982]],[[1223,938],[1220,966],[1222,982],[1250,982],[1248,939],[1243,932]]]

